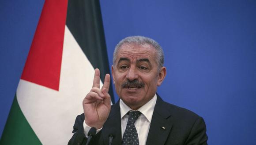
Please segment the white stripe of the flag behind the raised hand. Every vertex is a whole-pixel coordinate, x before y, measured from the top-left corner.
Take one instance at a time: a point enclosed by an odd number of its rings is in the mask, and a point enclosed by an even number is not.
[[[93,66],[66,26],[59,91],[25,80],[17,89],[19,106],[43,145],[68,144],[93,76]]]

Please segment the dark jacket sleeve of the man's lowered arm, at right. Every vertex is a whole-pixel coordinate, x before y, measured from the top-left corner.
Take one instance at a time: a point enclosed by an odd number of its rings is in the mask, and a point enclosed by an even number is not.
[[[207,145],[206,125],[202,117],[194,123],[185,145]]]

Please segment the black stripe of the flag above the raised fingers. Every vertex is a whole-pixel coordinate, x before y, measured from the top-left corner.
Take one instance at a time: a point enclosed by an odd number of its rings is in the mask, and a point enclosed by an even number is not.
[[[104,83],[110,71],[99,0],[68,0],[66,25]],[[114,104],[112,81],[109,94]]]

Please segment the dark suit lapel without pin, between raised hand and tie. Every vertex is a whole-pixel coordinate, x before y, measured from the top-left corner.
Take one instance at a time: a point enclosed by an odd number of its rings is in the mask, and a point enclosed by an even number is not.
[[[106,120],[104,127],[102,128],[102,137],[104,145],[109,145],[109,134],[114,135],[112,145],[121,145],[121,116],[119,101],[114,104],[109,113],[109,118]]]

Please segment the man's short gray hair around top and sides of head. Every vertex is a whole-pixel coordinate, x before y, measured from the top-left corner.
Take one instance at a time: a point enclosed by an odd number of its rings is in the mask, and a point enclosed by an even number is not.
[[[113,54],[113,65],[115,65],[115,61],[117,59],[117,52],[123,44],[151,45],[156,50],[156,54],[157,54],[156,60],[158,63],[158,70],[162,68],[164,64],[164,53],[163,53],[162,47],[155,40],[148,37],[144,37],[144,36],[129,36],[121,40],[115,47],[115,51]]]

